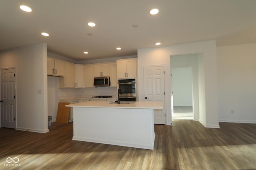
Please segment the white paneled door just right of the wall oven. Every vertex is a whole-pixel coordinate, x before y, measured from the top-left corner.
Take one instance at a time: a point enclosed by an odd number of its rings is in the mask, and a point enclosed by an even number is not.
[[[154,123],[165,124],[164,66],[144,67],[144,101],[163,103],[163,109],[154,109]]]

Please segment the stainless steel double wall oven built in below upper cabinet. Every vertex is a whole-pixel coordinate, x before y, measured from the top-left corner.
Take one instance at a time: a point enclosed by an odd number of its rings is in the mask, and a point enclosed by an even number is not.
[[[120,101],[136,101],[136,79],[118,80],[118,88],[122,92],[119,95]]]

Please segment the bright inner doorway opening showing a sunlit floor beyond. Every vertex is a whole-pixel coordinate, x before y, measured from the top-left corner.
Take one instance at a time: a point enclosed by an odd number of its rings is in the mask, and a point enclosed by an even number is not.
[[[172,119],[193,120],[192,67],[172,68]]]

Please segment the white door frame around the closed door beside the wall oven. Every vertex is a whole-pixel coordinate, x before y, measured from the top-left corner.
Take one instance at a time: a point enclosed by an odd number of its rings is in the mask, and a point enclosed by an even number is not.
[[[145,67],[157,67],[157,66],[163,66],[164,67],[164,92],[165,92],[165,95],[164,95],[164,109],[165,109],[165,125],[167,125],[167,109],[166,109],[166,64],[154,64],[154,65],[143,65],[142,66],[142,95],[145,96],[144,94],[144,68]]]

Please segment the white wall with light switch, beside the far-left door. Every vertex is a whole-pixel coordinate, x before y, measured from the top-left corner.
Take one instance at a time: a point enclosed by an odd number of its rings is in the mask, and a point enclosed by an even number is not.
[[[48,132],[47,45],[1,51],[0,68],[10,67],[16,68],[16,129]]]

